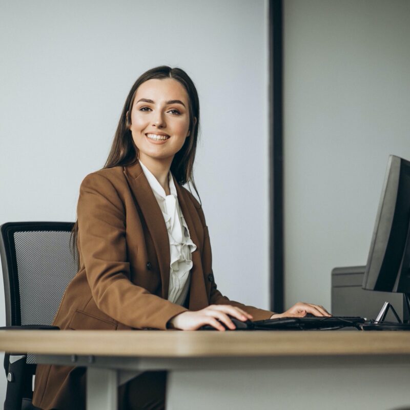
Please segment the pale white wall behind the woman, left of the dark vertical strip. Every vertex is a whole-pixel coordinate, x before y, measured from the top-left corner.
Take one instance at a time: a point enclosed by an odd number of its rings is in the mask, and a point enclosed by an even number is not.
[[[0,0],[0,223],[74,220],[80,182],[104,165],[135,79],[178,66],[200,98],[195,179],[218,288],[268,308],[265,8],[264,0]]]

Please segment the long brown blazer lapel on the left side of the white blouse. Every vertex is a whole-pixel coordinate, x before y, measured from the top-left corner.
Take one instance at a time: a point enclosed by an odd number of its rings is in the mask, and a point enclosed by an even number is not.
[[[159,273],[161,275],[162,297],[168,299],[171,264],[170,242],[162,212],[139,162],[129,167],[124,167],[124,174],[142,215],[144,215],[152,241],[154,242],[159,264]]]

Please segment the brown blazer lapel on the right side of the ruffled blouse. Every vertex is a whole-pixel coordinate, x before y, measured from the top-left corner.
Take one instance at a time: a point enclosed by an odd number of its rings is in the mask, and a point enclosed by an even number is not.
[[[191,286],[189,293],[189,309],[196,311],[206,308],[209,305],[207,289],[205,287],[205,281],[203,278],[202,260],[200,254],[202,242],[199,242],[198,240],[198,234],[191,215],[191,212],[195,211],[192,209],[193,205],[191,201],[186,197],[184,190],[178,185],[175,177],[172,177],[174,178],[175,188],[178,195],[179,207],[181,208],[182,215],[187,222],[191,240],[196,245],[196,250],[192,252],[191,255],[193,266],[191,270]],[[191,205],[191,207],[189,207],[189,205]]]

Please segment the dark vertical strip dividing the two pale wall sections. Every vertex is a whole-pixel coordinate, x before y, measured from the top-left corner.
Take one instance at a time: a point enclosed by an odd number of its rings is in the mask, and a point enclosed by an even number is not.
[[[282,0],[269,0],[270,304],[283,312]]]

